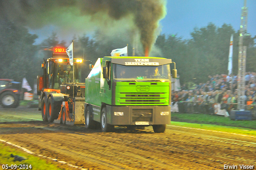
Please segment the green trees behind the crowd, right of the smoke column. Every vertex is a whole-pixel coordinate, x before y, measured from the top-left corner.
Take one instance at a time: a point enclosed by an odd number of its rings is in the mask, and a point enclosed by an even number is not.
[[[163,57],[176,62],[181,84],[186,82],[206,82],[209,75],[228,74],[230,36],[233,38],[233,74],[238,72],[239,30],[235,32],[230,24],[220,28],[210,23],[206,27],[194,28],[191,39],[182,40],[177,35],[158,36],[156,46]],[[256,37],[245,36],[247,46],[246,71],[256,71]]]

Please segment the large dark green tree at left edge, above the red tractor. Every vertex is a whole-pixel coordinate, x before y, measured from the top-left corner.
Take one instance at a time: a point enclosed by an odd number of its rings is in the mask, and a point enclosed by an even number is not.
[[[34,45],[38,36],[8,20],[0,20],[0,32],[0,78],[21,82],[26,77],[33,84],[36,77],[30,66],[33,65],[34,55],[38,50]]]

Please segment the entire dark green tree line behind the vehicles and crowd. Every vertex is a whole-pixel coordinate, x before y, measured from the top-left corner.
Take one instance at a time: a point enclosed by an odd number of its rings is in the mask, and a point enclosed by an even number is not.
[[[10,78],[22,82],[26,77],[32,85],[37,75],[42,74],[43,58],[50,58],[52,46],[67,47],[71,42],[59,41],[56,33],[46,38],[40,44],[35,44],[36,34],[30,34],[28,29],[17,26],[13,22],[0,20],[0,78]],[[213,23],[202,28],[194,28],[191,39],[182,39],[178,35],[161,34],[156,38],[150,56],[171,58],[176,62],[181,84],[187,82],[206,82],[208,75],[228,74],[228,53],[230,36],[233,40],[233,73],[238,72],[238,36],[229,24],[220,28]],[[246,71],[256,72],[256,36],[245,36],[247,46]],[[91,60],[94,64],[97,58],[110,56],[111,50],[128,45],[128,54],[132,56],[134,40],[130,35],[116,33],[114,36],[96,31],[94,36],[74,37],[74,56]],[[138,43],[139,44],[139,43]],[[137,46],[136,46],[137,47]],[[142,56],[143,51],[138,45],[136,55]],[[89,64],[89,63],[88,63]],[[85,74],[89,73],[86,68]]]

